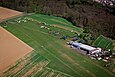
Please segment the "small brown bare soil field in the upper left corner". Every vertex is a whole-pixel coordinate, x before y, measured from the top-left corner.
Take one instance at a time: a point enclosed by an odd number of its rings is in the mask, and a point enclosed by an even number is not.
[[[8,19],[10,17],[22,15],[22,12],[11,10],[8,8],[0,7],[0,21],[4,19]]]

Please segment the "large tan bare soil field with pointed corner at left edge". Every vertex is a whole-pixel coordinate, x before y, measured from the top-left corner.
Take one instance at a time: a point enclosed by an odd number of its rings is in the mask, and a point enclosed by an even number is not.
[[[33,48],[0,27],[0,72],[32,50]]]

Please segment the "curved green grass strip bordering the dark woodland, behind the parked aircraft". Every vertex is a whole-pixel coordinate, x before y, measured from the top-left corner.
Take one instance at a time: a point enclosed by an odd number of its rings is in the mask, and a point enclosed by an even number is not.
[[[75,27],[70,22],[68,22],[67,20],[60,18],[60,17],[48,16],[48,15],[42,15],[42,14],[37,14],[37,15],[34,14],[32,16],[29,16],[29,17],[34,18],[39,22],[44,22],[46,24],[61,25],[62,27],[64,26],[66,29],[74,30],[77,33],[83,32],[82,28]]]

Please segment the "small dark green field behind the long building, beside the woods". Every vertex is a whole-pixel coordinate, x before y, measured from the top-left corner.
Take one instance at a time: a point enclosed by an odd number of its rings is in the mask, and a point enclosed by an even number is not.
[[[100,35],[92,44],[93,46],[105,48],[105,49],[113,49],[113,42],[106,37]]]

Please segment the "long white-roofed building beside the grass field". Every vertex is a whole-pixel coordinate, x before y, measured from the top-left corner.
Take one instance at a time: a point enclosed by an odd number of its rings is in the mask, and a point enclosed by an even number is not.
[[[74,47],[77,47],[77,48],[80,48],[82,50],[87,51],[87,54],[89,54],[89,53],[93,54],[93,53],[101,52],[101,48],[95,48],[95,47],[85,45],[85,44],[82,44],[82,43],[78,43],[78,42],[72,42],[71,45],[74,46]]]

